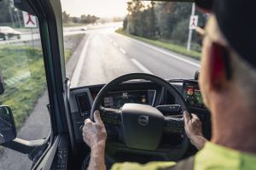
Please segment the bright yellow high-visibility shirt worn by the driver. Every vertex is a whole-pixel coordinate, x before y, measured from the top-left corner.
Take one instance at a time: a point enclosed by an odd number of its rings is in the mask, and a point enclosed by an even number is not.
[[[153,161],[147,164],[116,163],[111,170],[163,170],[176,165],[174,161]],[[195,155],[195,170],[256,170],[256,155],[207,142]]]

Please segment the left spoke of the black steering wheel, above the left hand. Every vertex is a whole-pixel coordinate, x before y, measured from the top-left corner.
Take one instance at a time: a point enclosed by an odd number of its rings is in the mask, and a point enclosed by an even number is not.
[[[121,110],[120,109],[113,109],[113,108],[106,108],[101,107],[101,116],[102,121],[109,125],[116,125],[119,126],[121,123]]]

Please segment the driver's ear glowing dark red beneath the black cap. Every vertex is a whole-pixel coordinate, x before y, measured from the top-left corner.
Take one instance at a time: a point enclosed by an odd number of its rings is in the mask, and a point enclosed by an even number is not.
[[[212,42],[208,57],[210,89],[222,91],[231,78],[229,50]]]

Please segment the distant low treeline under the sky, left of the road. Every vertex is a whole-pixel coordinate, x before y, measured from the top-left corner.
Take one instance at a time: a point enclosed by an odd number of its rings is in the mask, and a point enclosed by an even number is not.
[[[80,24],[94,24],[96,20],[100,18],[96,17],[95,15],[90,14],[82,14],[80,17],[72,17],[70,14],[67,14],[66,11],[62,13],[62,20],[63,23],[80,23]]]

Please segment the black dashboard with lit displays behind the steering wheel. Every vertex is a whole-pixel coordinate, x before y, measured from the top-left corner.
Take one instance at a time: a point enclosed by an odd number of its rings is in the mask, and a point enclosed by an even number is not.
[[[169,82],[172,83],[172,85],[177,88],[177,91],[183,96],[189,110],[196,113],[203,122],[210,124],[210,114],[203,104],[198,82],[194,80],[172,80]],[[83,142],[81,128],[83,127],[84,120],[90,117],[91,105],[103,86],[104,84],[71,89],[71,120],[73,123],[75,139],[78,143]],[[175,105],[176,101],[172,94],[169,94],[164,88],[153,82],[147,81],[124,82],[102,99],[102,106],[107,108],[119,109],[125,105],[125,103],[152,105],[157,108],[157,106],[160,105]],[[165,116],[171,116],[168,115],[168,112],[161,112]],[[177,114],[180,114],[180,112]],[[210,128],[205,127],[205,129],[207,131],[206,136],[210,137]]]

